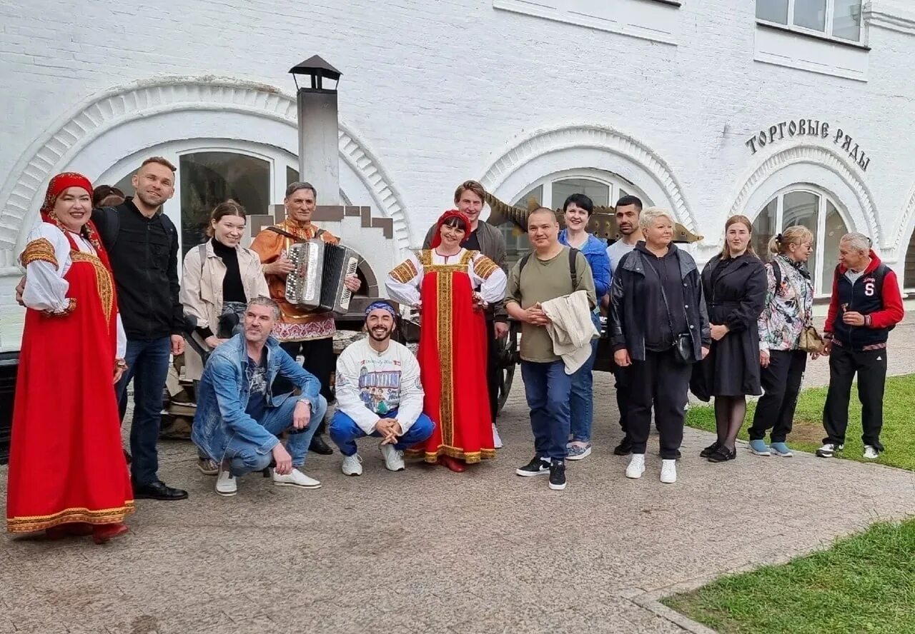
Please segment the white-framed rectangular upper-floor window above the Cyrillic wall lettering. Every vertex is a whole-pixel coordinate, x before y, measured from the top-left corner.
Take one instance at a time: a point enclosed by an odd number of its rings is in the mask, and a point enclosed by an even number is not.
[[[756,0],[759,20],[860,43],[862,0]]]

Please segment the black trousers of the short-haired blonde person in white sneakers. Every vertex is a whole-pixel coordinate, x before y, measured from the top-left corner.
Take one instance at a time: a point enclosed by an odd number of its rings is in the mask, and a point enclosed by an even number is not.
[[[654,423],[661,435],[661,457],[676,460],[684,439],[684,408],[693,365],[676,360],[673,348],[662,353],[646,351],[644,361],[630,366],[629,436],[632,453],[645,453]]]

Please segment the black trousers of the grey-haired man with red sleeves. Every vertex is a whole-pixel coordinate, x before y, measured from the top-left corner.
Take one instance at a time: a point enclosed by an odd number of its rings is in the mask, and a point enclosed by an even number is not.
[[[823,407],[823,442],[845,444],[848,428],[848,401],[852,380],[857,374],[858,400],[861,401],[861,427],[864,444],[883,450],[880,429],[883,428],[883,389],[887,383],[887,349],[855,351],[833,345],[829,353],[829,391]]]

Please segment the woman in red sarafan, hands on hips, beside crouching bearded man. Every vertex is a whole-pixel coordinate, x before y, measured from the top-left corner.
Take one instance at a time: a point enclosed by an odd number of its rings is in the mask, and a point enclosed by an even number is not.
[[[502,300],[506,278],[491,259],[460,246],[469,233],[468,217],[457,209],[445,212],[432,248],[411,255],[385,282],[394,300],[421,311],[417,357],[423,411],[436,422],[425,445],[407,453],[453,471],[496,456],[482,308]]]

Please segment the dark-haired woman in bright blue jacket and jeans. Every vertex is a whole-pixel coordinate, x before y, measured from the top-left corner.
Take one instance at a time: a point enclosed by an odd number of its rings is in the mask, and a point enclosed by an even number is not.
[[[559,242],[566,247],[577,248],[587,259],[594,276],[594,290],[597,305],[610,290],[610,260],[607,257],[607,244],[586,230],[587,222],[594,211],[594,203],[584,194],[573,194],[565,199],[563,213],[565,229],[559,232]],[[600,316],[597,308],[591,315],[597,331],[600,331]],[[591,453],[591,422],[594,417],[592,398],[593,381],[591,368],[597,354],[597,339],[591,342],[591,356],[585,365],[572,376],[572,441],[568,444],[568,460],[582,460]]]

